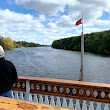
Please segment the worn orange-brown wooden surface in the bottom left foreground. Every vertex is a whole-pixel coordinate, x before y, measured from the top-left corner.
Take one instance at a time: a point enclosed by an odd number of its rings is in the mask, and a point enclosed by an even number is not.
[[[73,110],[46,104],[0,97],[0,110]]]

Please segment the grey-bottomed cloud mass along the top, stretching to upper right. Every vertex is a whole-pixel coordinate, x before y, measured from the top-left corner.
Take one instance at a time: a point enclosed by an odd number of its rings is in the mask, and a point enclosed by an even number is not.
[[[109,0],[16,0],[16,3],[25,8],[37,10],[39,14],[50,16],[57,15],[59,11],[64,12],[64,7],[67,5],[69,14],[59,17],[56,22],[62,27],[71,27],[82,17],[82,12],[84,21],[89,22],[100,18],[104,11],[110,10]]]

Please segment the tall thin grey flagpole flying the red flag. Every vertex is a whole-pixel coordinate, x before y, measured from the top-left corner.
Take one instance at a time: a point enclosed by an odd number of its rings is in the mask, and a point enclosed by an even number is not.
[[[82,13],[80,81],[83,81],[83,63],[84,63],[84,34],[83,34],[83,13]]]

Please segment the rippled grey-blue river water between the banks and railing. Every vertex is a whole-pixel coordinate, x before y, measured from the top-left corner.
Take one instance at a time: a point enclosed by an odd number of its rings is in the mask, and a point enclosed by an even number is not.
[[[51,47],[15,48],[5,58],[16,66],[18,75],[79,80],[80,52]],[[110,57],[86,53],[84,81],[110,83]]]

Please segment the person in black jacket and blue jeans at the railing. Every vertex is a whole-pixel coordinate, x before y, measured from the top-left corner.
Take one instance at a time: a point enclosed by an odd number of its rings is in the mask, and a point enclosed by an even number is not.
[[[15,66],[11,61],[5,60],[4,54],[0,45],[0,96],[12,98],[12,87],[18,75]]]

